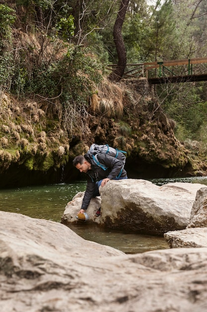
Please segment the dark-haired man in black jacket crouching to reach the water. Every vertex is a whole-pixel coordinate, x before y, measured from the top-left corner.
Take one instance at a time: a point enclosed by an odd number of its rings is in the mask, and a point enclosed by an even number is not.
[[[123,168],[124,162],[106,153],[97,154],[98,161],[105,165],[103,169],[96,164],[88,152],[84,156],[79,155],[73,159],[73,165],[87,175],[87,186],[83,197],[82,206],[78,213],[84,213],[92,197],[100,196],[99,186],[104,186],[109,180],[127,179],[127,171]],[[100,216],[99,208],[96,216]]]

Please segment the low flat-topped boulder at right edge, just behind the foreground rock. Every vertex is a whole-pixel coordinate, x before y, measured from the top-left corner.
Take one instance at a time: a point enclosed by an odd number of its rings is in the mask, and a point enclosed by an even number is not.
[[[164,239],[170,248],[207,247],[207,227],[169,231],[164,233]]]

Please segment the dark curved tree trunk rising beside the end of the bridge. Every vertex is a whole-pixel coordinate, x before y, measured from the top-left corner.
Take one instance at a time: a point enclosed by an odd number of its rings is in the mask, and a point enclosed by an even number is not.
[[[118,54],[118,64],[117,67],[113,70],[113,72],[109,75],[109,79],[115,82],[120,81],[120,79],[124,74],[125,66],[127,64],[127,52],[122,37],[122,25],[124,23],[128,4],[129,0],[121,0],[117,18],[114,24],[113,35]]]

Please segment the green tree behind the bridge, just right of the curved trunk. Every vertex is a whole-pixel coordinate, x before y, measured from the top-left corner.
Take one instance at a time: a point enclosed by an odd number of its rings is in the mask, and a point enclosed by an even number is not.
[[[135,2],[135,0],[134,0]],[[140,3],[141,2],[141,3]],[[178,33],[171,0],[130,2],[123,38],[130,63],[173,59]]]

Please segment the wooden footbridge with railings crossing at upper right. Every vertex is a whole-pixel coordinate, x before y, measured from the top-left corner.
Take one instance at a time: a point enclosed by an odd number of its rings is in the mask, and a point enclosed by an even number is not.
[[[204,73],[207,72],[207,66],[203,69],[198,66],[193,68],[193,65],[205,63],[207,57],[127,64],[123,78],[146,77],[150,84],[207,81],[207,73]],[[117,64],[108,66],[113,69]],[[203,73],[199,74],[201,71]]]

